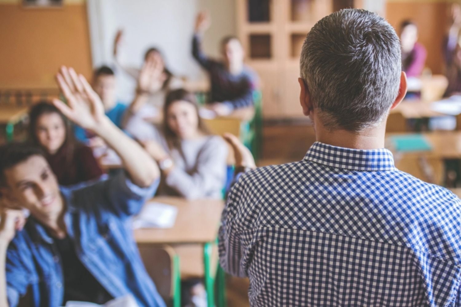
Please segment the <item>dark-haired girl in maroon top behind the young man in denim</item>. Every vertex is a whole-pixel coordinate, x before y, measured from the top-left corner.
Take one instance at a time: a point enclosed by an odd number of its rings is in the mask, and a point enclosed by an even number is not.
[[[75,140],[67,118],[47,101],[30,108],[29,140],[43,150],[60,185],[97,179],[104,173],[91,148]]]

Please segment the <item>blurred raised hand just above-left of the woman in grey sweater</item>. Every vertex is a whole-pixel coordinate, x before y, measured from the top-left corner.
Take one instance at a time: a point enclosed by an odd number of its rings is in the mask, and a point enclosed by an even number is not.
[[[166,75],[160,59],[148,59],[142,65],[138,77],[138,91],[142,93],[155,93],[163,87]]]

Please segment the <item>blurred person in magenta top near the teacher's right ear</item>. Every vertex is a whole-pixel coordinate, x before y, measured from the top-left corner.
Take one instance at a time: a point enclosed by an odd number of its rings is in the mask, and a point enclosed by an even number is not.
[[[426,64],[426,48],[418,42],[418,27],[411,20],[400,24],[400,42],[402,44],[402,70],[407,77],[419,77]]]

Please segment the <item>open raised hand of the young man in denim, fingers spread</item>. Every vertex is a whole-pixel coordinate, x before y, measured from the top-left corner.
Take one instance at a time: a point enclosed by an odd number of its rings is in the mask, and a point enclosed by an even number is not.
[[[73,68],[62,66],[56,74],[56,81],[67,100],[67,105],[59,99],[53,104],[77,125],[95,131],[106,119],[104,106],[83,75]]]

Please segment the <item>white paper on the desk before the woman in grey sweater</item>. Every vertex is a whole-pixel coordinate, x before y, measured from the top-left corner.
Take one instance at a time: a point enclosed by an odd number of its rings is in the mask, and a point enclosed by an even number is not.
[[[133,220],[136,228],[171,228],[176,221],[177,207],[148,202]]]

